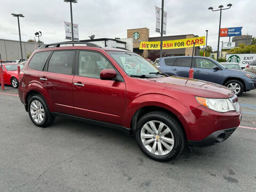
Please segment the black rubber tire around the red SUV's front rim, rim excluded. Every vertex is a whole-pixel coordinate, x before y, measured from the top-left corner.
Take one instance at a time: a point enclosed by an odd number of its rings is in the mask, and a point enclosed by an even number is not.
[[[169,129],[171,130],[173,137],[174,137],[173,138],[174,143],[173,143],[172,150],[170,150],[170,152],[167,153],[166,155],[155,155],[155,154],[151,153],[148,149],[146,149],[146,147],[143,145],[142,139],[141,139],[141,129],[142,129],[143,125],[145,125],[149,121],[162,122],[165,125],[167,125],[169,127]],[[164,113],[163,111],[153,111],[153,112],[150,112],[150,113],[142,116],[139,119],[139,122],[135,129],[135,135],[136,135],[137,143],[138,143],[140,149],[143,151],[143,153],[145,153],[148,157],[150,157],[156,161],[161,161],[161,162],[170,161],[171,159],[178,157],[185,147],[185,133],[183,131],[182,126],[177,121],[177,119],[175,119],[173,116],[171,116],[167,113]]]

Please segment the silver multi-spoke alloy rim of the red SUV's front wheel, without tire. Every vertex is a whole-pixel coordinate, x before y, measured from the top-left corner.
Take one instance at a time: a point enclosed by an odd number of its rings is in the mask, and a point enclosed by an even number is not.
[[[143,146],[154,155],[169,154],[174,146],[174,137],[171,129],[159,121],[149,121],[141,129]]]

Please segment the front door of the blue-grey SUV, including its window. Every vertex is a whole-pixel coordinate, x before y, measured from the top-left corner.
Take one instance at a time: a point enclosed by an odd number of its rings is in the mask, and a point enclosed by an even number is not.
[[[206,58],[195,58],[195,60],[194,78],[221,84],[222,69],[217,64]],[[219,69],[214,69],[215,67]]]

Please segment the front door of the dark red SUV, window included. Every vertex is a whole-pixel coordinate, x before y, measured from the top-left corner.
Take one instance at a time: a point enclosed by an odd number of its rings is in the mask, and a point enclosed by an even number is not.
[[[102,62],[107,64],[106,69],[115,69],[114,66],[95,51],[81,50],[76,60],[73,79],[75,116],[122,124],[126,105],[125,82],[100,79]]]

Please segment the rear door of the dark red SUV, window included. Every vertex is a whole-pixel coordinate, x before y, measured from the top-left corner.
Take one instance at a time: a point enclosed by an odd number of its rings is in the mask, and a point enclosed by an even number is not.
[[[74,50],[53,51],[39,74],[39,81],[46,89],[55,112],[74,115],[73,63]]]

